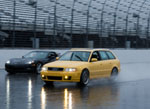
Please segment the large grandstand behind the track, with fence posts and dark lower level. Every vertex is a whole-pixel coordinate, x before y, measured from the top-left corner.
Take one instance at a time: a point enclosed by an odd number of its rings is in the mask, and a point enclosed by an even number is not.
[[[0,47],[149,47],[149,0],[0,0]]]

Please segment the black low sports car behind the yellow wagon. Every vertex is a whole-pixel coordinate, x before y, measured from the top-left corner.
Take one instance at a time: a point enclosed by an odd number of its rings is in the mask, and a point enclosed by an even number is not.
[[[5,63],[5,70],[8,73],[34,72],[40,73],[41,67],[56,60],[57,53],[51,51],[32,51],[22,56],[13,58]]]

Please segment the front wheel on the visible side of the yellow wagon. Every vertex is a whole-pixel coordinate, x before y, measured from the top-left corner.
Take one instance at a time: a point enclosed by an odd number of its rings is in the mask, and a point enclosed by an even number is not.
[[[80,77],[80,82],[79,84],[81,86],[86,86],[89,83],[89,71],[88,70],[83,70],[81,77]]]

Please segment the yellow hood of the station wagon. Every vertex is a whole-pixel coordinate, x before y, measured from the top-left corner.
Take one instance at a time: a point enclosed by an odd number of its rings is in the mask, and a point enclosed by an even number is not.
[[[45,67],[76,68],[85,65],[87,63],[88,62],[82,62],[82,61],[55,61],[55,62],[45,64]]]

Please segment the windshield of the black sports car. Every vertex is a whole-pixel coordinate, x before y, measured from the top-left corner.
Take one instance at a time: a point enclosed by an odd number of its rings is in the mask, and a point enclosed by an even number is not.
[[[33,51],[29,52],[24,56],[24,58],[36,58],[36,59],[41,59],[41,58],[46,58],[48,56],[48,52],[44,51]]]

